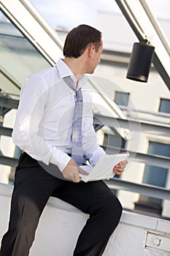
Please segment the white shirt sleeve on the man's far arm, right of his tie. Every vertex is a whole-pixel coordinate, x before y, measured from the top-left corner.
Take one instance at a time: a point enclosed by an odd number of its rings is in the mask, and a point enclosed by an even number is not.
[[[85,102],[83,113],[82,127],[82,146],[85,158],[88,159],[90,165],[96,165],[98,160],[106,154],[104,149],[98,145],[96,132],[93,128],[93,108],[90,95],[88,94],[88,102]]]

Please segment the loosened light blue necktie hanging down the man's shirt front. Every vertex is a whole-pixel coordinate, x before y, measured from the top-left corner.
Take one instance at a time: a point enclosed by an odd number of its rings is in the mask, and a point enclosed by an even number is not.
[[[74,116],[72,121],[72,159],[77,162],[77,165],[83,163],[83,152],[82,152],[82,91],[81,89],[76,90],[74,81],[70,76],[63,78],[64,82],[69,86],[70,89],[75,91],[75,108]]]

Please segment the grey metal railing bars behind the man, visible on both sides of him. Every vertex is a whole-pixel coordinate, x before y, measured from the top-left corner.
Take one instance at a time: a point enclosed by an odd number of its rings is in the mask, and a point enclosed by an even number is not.
[[[101,122],[102,124],[105,124],[109,127],[115,127],[118,125],[120,127],[127,129],[129,128],[129,125],[130,125],[130,127],[133,126],[134,129],[139,128],[139,124],[136,124],[137,122],[135,121],[123,120],[120,118],[110,118],[108,116],[95,115],[94,124],[101,124]],[[141,123],[140,125],[141,125],[142,131],[156,130],[158,133],[161,133],[166,136],[170,136],[169,127],[156,126],[155,124],[144,124],[144,123]],[[9,129],[7,127],[0,127],[0,135],[5,135],[10,137],[11,133],[12,133],[12,129]],[[116,154],[117,151],[120,151],[120,153],[122,151],[125,151],[124,148],[116,148],[113,146],[104,146],[104,145],[102,146],[105,149],[107,149],[107,154]],[[134,151],[129,151],[129,153],[134,162],[141,162],[144,164],[155,165],[155,166],[165,167],[165,168],[169,168],[170,166],[169,157],[162,157],[162,156],[151,155],[151,154],[142,154]],[[1,155],[0,164],[16,167],[18,164],[18,159],[12,158],[12,157],[5,157]],[[155,187],[147,184],[136,184],[134,182],[123,181],[120,178],[112,178],[109,181],[106,181],[106,183],[111,189],[123,189],[126,191],[136,192],[136,193],[147,195],[150,197],[160,198],[162,200],[165,200],[165,199],[170,200],[170,190],[162,187]]]

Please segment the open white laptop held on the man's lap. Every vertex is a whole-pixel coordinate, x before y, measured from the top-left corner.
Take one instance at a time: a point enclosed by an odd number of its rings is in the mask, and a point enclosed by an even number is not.
[[[98,163],[95,166],[92,165],[82,165],[80,166],[83,170],[87,171],[88,176],[80,173],[80,179],[82,181],[98,181],[98,180],[107,180],[115,176],[113,173],[113,167],[119,162],[127,159],[129,156],[128,153],[123,154],[104,154]]]

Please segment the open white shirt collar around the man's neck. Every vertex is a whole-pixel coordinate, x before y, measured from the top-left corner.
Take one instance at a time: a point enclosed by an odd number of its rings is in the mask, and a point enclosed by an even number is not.
[[[69,69],[67,64],[63,61],[63,59],[58,59],[57,63],[55,64],[55,67],[58,69],[58,73],[59,73],[61,79],[65,78],[67,76],[70,76],[72,78],[72,80],[74,81],[74,84],[76,83],[76,78],[75,78],[74,74]],[[88,78],[86,77],[86,75],[82,75],[82,77],[79,80],[77,89],[82,88],[82,86],[85,85],[87,80],[88,80]]]

